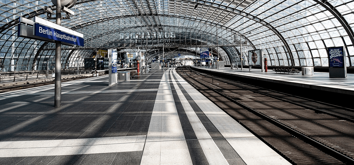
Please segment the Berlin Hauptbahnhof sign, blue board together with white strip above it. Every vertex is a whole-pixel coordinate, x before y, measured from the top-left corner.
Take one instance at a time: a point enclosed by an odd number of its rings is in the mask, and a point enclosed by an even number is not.
[[[84,46],[84,35],[39,17],[34,18],[33,34],[74,45]]]

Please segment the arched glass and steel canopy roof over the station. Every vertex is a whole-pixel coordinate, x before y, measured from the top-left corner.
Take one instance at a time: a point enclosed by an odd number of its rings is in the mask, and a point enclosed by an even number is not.
[[[55,6],[50,0],[0,5],[3,71],[45,69],[55,44],[18,37],[17,26],[19,17],[46,19],[43,7]],[[226,65],[241,65],[249,50],[263,49],[271,66],[328,67],[326,48],[344,46],[347,67],[354,64],[351,0],[78,0],[71,10],[75,16],[62,26],[83,33],[85,46],[62,46],[63,67],[92,57],[94,49],[138,47],[150,59],[162,49],[173,58],[208,47]]]

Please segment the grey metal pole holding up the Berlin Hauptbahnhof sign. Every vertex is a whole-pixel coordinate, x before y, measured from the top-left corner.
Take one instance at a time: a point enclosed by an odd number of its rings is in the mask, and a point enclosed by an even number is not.
[[[57,0],[56,24],[61,25],[61,0]],[[55,90],[54,90],[54,106],[62,106],[62,43],[55,41]]]

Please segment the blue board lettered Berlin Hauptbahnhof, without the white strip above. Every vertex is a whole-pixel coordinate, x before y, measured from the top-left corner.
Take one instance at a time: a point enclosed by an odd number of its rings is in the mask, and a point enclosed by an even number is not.
[[[74,36],[61,30],[53,29],[51,27],[37,23],[34,24],[34,35],[74,45],[84,46],[84,38]]]

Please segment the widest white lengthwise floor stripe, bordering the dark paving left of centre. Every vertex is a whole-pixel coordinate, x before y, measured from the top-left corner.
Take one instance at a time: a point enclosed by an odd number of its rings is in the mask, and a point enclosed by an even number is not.
[[[141,165],[193,164],[167,73],[160,81]]]

